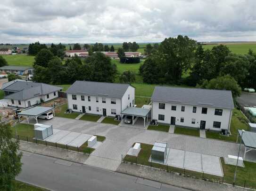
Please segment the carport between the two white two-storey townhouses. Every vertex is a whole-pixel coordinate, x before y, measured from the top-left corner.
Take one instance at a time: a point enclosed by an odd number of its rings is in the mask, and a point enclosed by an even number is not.
[[[142,117],[144,119],[144,127],[145,127],[145,120],[149,118],[149,112],[151,109],[148,108],[140,108],[140,107],[127,107],[124,111],[121,112],[121,123],[123,124],[123,116],[124,115],[131,115],[132,116],[132,125],[134,125],[134,116],[135,117]]]

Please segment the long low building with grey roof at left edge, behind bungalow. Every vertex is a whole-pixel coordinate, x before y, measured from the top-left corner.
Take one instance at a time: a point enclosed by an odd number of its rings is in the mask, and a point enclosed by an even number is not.
[[[25,66],[2,66],[0,67],[0,71],[6,74],[18,74],[18,75],[27,75],[33,73],[33,67],[25,67]]]

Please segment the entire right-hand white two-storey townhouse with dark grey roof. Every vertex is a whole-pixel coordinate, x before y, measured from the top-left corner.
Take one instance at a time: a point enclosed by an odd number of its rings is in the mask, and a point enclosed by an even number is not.
[[[230,130],[234,103],[231,91],[156,86],[151,119],[206,130]]]

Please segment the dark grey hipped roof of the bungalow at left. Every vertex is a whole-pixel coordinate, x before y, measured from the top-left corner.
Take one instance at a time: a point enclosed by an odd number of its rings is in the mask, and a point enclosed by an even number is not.
[[[7,95],[6,99],[20,99],[26,100],[39,95],[46,95],[51,92],[56,92],[63,89],[59,86],[36,83],[23,80],[13,80],[11,82],[5,83],[2,86],[3,91],[14,92]]]

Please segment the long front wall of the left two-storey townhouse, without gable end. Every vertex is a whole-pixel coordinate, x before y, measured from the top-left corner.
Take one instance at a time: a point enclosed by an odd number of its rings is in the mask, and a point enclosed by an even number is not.
[[[121,99],[116,98],[116,104],[111,104],[110,98],[106,97],[106,103],[102,103],[102,97],[99,102],[96,102],[96,96],[91,96],[91,101],[88,101],[88,96],[84,95],[84,101],[81,100],[81,94],[75,94],[76,100],[72,99],[72,93],[67,93],[68,108],[74,112],[82,112],[82,106],[85,106],[86,113],[103,115],[103,108],[106,109],[107,116],[116,116],[121,114]],[[77,105],[77,109],[73,109],[73,104]],[[91,106],[91,111],[89,111]],[[99,112],[97,112],[99,107]],[[116,115],[111,114],[111,109],[116,109]]]

